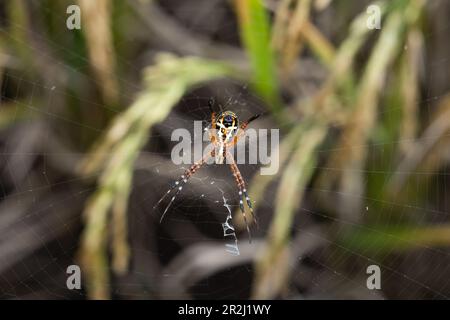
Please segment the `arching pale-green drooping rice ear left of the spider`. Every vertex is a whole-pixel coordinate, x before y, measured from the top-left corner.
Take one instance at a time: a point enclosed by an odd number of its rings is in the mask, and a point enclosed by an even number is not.
[[[219,62],[162,55],[146,69],[145,89],[129,109],[117,116],[106,135],[81,165],[85,175],[101,170],[98,189],[86,206],[79,257],[86,270],[88,296],[109,298],[109,212],[112,209],[113,268],[124,273],[128,264],[126,209],[134,161],[147,141],[149,129],[167,117],[192,86],[236,72]]]

